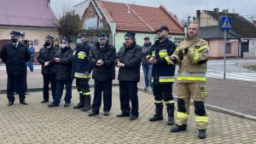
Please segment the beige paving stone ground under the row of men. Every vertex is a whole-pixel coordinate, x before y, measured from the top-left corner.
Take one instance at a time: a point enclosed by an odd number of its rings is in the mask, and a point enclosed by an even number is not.
[[[170,126],[166,125],[166,112],[163,121],[148,122],[148,118],[154,114],[153,95],[141,91],[138,95],[140,117],[136,121],[115,116],[119,112],[118,87],[113,87],[113,108],[108,117],[100,112],[99,116],[90,118],[87,112],[74,110],[73,106],[79,101],[75,89],[72,107],[67,108],[63,107],[63,100],[60,107],[49,108],[47,104],[41,104],[42,92],[27,95],[28,106],[15,101],[14,106],[7,107],[6,95],[0,95],[0,143],[256,144],[256,122],[212,111],[209,111],[207,139],[198,139],[193,107],[190,110],[188,130],[173,134]]]

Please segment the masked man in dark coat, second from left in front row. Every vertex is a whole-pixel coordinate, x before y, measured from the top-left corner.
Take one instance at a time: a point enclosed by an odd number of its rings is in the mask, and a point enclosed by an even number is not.
[[[55,60],[54,55],[58,48],[53,46],[53,39],[47,35],[45,37],[44,46],[39,50],[38,62],[42,65],[41,73],[44,80],[44,90],[43,90],[43,101],[41,103],[46,103],[49,101],[49,84],[51,87],[51,95],[53,100],[55,99],[56,92],[56,80],[55,80]]]

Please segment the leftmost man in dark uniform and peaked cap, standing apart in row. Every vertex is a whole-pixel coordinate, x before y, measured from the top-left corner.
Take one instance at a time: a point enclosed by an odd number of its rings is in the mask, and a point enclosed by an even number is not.
[[[29,51],[26,44],[20,43],[18,38],[21,37],[20,32],[11,32],[11,42],[6,43],[0,52],[0,57],[6,64],[6,72],[8,75],[7,82],[7,98],[8,106],[14,105],[15,102],[15,85],[20,98],[20,104],[27,105],[25,101],[25,75],[26,62],[30,60]]]

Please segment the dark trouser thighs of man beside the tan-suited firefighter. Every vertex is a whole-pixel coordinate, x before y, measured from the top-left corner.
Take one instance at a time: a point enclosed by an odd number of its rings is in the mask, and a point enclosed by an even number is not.
[[[153,84],[155,101],[173,101],[172,84]]]

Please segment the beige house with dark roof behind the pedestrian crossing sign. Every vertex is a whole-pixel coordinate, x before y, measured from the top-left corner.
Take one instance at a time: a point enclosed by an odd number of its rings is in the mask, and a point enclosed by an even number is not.
[[[224,32],[218,27],[221,15],[232,18],[232,29],[227,32],[227,49],[224,49]],[[231,14],[227,9],[219,12],[197,11],[197,20],[201,26],[201,37],[206,39],[211,47],[211,58],[224,57],[256,57],[256,26],[239,14]]]

